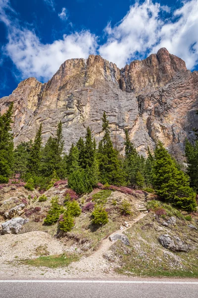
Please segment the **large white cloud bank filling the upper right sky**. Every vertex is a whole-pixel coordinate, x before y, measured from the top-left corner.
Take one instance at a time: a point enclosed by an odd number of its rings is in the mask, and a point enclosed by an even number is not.
[[[107,41],[99,54],[123,67],[146,53],[156,53],[161,47],[186,61],[193,69],[198,63],[198,0],[183,1],[181,8],[169,13],[168,6],[146,0],[136,2],[127,15],[114,27],[105,28]]]

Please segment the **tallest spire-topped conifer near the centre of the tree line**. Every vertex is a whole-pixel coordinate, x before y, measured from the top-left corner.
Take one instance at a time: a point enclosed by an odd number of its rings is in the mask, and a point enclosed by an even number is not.
[[[125,177],[121,160],[118,159],[118,152],[113,148],[105,112],[102,117],[102,131],[104,136],[99,142],[98,150],[99,181],[103,184],[124,185]]]

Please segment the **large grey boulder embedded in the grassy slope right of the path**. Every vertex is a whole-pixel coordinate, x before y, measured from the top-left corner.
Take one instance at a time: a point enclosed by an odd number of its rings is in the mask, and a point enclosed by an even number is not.
[[[159,243],[167,249],[170,249],[172,251],[178,251],[178,252],[187,252],[192,247],[185,242],[183,242],[179,237],[174,236],[174,240],[172,237],[168,234],[163,234],[159,236]]]

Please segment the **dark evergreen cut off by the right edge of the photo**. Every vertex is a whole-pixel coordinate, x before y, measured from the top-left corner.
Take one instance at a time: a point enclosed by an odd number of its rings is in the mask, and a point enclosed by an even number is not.
[[[198,140],[192,145],[188,140],[185,144],[185,153],[188,163],[187,173],[190,177],[190,185],[198,192]]]

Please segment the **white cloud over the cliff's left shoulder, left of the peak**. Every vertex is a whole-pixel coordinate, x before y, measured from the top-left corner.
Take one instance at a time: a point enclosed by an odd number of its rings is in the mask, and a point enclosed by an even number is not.
[[[22,77],[36,76],[47,81],[67,59],[87,58],[96,53],[96,37],[89,31],[64,35],[52,44],[42,44],[33,31],[18,28],[10,31],[5,47]]]

